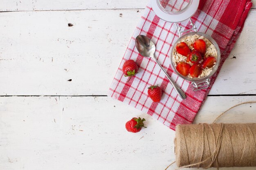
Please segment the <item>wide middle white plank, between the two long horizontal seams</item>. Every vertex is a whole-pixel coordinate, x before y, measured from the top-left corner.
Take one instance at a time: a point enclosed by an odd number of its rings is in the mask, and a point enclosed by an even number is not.
[[[0,95],[106,95],[143,11],[100,11],[1,13]],[[211,95],[256,93],[255,15]]]

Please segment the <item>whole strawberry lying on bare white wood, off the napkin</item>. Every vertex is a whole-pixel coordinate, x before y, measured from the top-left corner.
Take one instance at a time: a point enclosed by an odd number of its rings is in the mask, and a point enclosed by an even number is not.
[[[129,121],[126,122],[125,124],[125,128],[128,132],[133,132],[133,133],[137,133],[141,130],[142,127],[146,128],[144,126],[143,121],[145,121],[145,119],[141,119],[133,117],[132,119],[130,119]]]

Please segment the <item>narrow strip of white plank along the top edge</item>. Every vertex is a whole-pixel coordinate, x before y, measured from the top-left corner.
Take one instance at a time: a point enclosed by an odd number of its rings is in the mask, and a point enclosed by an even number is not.
[[[0,11],[144,9],[149,0],[1,0]],[[252,0],[256,7],[256,0]]]

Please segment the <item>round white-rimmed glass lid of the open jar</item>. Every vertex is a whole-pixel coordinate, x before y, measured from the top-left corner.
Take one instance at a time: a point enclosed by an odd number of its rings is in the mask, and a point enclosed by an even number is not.
[[[199,0],[151,0],[155,14],[168,22],[182,22],[198,9]]]

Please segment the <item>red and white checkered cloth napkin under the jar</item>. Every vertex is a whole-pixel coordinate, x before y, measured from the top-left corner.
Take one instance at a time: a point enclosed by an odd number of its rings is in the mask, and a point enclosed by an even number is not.
[[[181,7],[182,3],[175,4],[175,8]],[[108,96],[152,115],[173,130],[177,124],[191,124],[206,99],[223,62],[234,47],[251,7],[250,0],[200,0],[198,10],[191,19],[198,31],[207,33],[216,40],[221,51],[221,62],[218,71],[211,77],[209,88],[193,92],[189,87],[190,82],[178,77],[170,66],[170,49],[179,37],[175,24],[159,19],[148,5],[132,35]],[[181,26],[183,29],[189,29],[189,20],[182,22]],[[186,93],[186,99],[182,100],[177,95],[155,61],[139,55],[135,47],[135,38],[139,34],[146,35],[153,40],[156,45],[155,57]],[[128,82],[128,77],[124,77],[122,73],[122,66],[129,59],[135,60],[139,66],[139,73]],[[164,92],[159,103],[152,102],[147,94],[148,87],[156,84]]]

